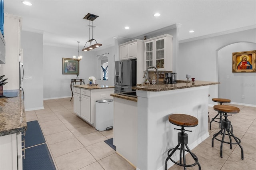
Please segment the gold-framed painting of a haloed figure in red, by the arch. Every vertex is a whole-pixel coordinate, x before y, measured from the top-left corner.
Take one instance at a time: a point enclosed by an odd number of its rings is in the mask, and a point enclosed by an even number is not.
[[[232,72],[256,72],[256,50],[232,53]]]

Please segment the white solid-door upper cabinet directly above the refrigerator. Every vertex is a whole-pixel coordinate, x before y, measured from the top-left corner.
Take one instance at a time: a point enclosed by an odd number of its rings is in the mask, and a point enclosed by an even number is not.
[[[142,50],[141,48],[138,48],[139,43],[143,43],[143,41],[132,40],[130,42],[120,44],[120,60],[137,58],[138,51]]]

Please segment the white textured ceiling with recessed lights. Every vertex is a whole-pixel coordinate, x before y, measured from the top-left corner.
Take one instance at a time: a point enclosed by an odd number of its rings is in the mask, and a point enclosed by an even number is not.
[[[94,20],[93,38],[102,49],[113,37],[134,38],[179,23],[179,40],[256,28],[256,0],[4,0],[4,12],[22,17],[22,30],[42,32],[44,44],[80,49],[89,40],[87,13]],[[154,17],[159,12],[161,16]],[[125,30],[124,26],[129,26]],[[193,34],[189,30],[195,30]],[[254,35],[255,36],[255,35]]]

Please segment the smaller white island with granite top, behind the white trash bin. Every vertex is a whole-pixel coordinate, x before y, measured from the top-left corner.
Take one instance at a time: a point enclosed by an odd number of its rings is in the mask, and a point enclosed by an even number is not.
[[[114,86],[74,85],[74,113],[95,127],[95,101],[113,99]]]

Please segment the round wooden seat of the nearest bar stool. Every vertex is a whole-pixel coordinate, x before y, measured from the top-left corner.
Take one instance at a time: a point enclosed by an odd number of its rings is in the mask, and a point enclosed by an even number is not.
[[[180,127],[195,127],[198,125],[196,117],[185,114],[172,114],[169,116],[169,122]]]

